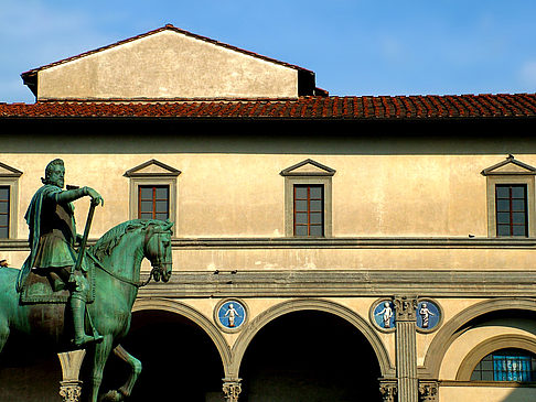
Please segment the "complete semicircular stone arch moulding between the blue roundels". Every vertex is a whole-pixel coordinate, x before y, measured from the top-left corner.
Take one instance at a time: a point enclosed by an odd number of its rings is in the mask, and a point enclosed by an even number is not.
[[[390,362],[387,350],[382,343],[382,339],[377,335],[376,330],[361,317],[358,314],[334,302],[325,300],[311,300],[311,298],[299,298],[289,302],[283,302],[278,305],[272,306],[266,312],[257,316],[247,328],[240,334],[233,347],[233,365],[229,369],[231,373],[237,378],[240,369],[242,360],[249,346],[251,339],[257,335],[257,333],[265,327],[268,323],[288,313],[301,312],[305,309],[320,311],[324,313],[331,313],[336,315],[346,322],[351,323],[356,327],[368,340],[376,358],[378,359],[379,369],[383,377],[395,376],[395,368]]]

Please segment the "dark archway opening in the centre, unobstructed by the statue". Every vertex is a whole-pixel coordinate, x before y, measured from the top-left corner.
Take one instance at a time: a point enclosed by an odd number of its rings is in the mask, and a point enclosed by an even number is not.
[[[240,402],[382,400],[371,344],[324,312],[289,313],[267,324],[248,346],[240,377]]]

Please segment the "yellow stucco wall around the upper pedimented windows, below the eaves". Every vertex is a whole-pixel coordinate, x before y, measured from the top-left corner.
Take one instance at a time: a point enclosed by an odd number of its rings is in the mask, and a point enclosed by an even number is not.
[[[126,171],[157,159],[178,177],[178,238],[282,238],[285,177],[279,172],[303,154],[2,154],[1,162],[23,172],[19,181],[18,237],[28,238],[23,215],[41,186],[45,165],[61,156],[66,183],[87,185],[105,198],[92,237],[129,219]],[[518,159],[536,164],[534,155]],[[496,155],[318,155],[336,170],[333,237],[487,237],[485,177],[481,170]],[[76,202],[78,231],[88,199]],[[470,246],[469,246],[470,247]],[[14,251],[12,251],[14,252]],[[13,256],[13,264],[21,257]],[[352,248],[352,249],[181,249],[175,264],[186,270],[255,269],[438,269],[532,270],[532,249]]]

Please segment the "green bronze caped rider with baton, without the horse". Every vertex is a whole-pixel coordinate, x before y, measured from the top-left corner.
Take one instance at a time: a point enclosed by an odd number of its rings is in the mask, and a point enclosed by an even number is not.
[[[84,317],[88,292],[87,268],[82,263],[81,271],[74,271],[77,252],[75,242],[81,240],[76,233],[74,206],[72,202],[84,196],[92,197],[94,205],[104,205],[103,197],[90,187],[63,189],[65,167],[61,159],[46,165],[43,186],[34,194],[24,219],[30,227],[30,256],[22,265],[17,290],[20,292],[25,278],[33,269],[49,276],[54,290],[67,287],[71,292],[69,305],[73,314],[74,339],[76,347],[99,341],[100,335],[86,335]]]

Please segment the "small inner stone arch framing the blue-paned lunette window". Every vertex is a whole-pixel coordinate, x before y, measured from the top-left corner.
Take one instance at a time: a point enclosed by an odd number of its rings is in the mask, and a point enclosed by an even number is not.
[[[536,339],[523,335],[499,335],[485,339],[472,349],[463,359],[455,374],[457,381],[470,381],[474,367],[487,355],[500,349],[523,349],[536,355]]]

